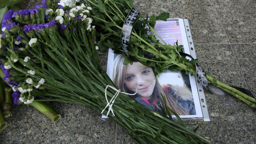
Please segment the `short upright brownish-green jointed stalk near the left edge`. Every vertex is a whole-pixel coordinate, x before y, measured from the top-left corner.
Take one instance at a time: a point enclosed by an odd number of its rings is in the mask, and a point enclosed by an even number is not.
[[[12,107],[13,107],[12,89],[5,88],[4,92],[5,92],[4,103],[1,105],[1,108],[3,110],[4,117],[8,118],[9,116],[12,116]]]

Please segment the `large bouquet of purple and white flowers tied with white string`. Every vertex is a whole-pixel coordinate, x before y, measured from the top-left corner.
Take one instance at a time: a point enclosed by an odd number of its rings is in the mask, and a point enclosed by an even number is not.
[[[209,143],[166,105],[162,116],[114,90],[97,57],[92,12],[98,9],[80,3],[44,0],[34,9],[5,14],[1,62],[9,81],[17,83],[17,103],[59,101],[104,110],[105,115],[111,111],[109,118],[140,143]],[[180,124],[166,113],[175,114]]]

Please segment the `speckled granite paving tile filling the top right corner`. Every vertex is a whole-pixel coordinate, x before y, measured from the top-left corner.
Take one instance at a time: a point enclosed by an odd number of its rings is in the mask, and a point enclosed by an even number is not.
[[[213,0],[231,43],[256,41],[254,0]]]

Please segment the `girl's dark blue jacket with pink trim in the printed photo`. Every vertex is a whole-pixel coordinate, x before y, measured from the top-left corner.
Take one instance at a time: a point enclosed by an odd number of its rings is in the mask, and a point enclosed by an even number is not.
[[[170,95],[173,96],[177,104],[179,104],[180,106],[184,107],[189,111],[189,115],[196,115],[193,95],[189,88],[174,86],[170,84],[163,85],[163,88],[166,92],[168,92]],[[140,97],[135,98],[135,100],[145,105],[147,108],[154,110],[159,114],[162,114],[162,110],[158,109],[157,106],[154,106],[155,104],[157,104],[161,108],[161,105],[164,105],[164,104],[161,104],[160,100],[158,99],[159,98],[147,100],[145,98],[140,98]],[[153,109],[153,107],[155,107],[155,109]]]

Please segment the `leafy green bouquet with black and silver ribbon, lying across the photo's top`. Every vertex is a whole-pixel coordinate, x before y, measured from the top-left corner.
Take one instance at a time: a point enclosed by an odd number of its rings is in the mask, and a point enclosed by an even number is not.
[[[135,21],[131,35],[127,37],[122,36],[122,26],[126,20],[126,15],[132,9],[133,1],[127,0],[86,0],[86,2],[94,7],[93,24],[97,25],[97,36],[100,41],[97,42],[97,46],[100,51],[105,51],[108,47],[111,47],[116,54],[123,54],[125,56],[124,64],[132,64],[133,61],[139,61],[145,66],[151,66],[156,69],[155,76],[160,73],[170,70],[185,70],[186,74],[199,74],[198,79],[202,80],[202,85],[213,94],[221,95],[233,95],[239,100],[242,100],[252,108],[256,108],[256,97],[247,89],[232,87],[225,83],[216,80],[210,74],[205,73],[198,65],[196,60],[189,61],[185,57],[188,56],[181,52],[182,45],[178,45],[178,42],[174,45],[167,44],[155,31],[154,26],[156,20],[166,20],[169,18],[169,13],[163,12],[158,16],[152,15],[145,18],[138,13],[138,10],[134,10],[133,15],[129,15],[134,19],[134,15],[140,20]],[[136,11],[136,12],[135,12]],[[136,18],[135,18],[136,19]],[[148,34],[150,33],[150,34]],[[120,43],[121,38],[124,41],[129,41],[129,46]],[[129,38],[129,39],[126,39]],[[159,38],[164,44],[159,42]],[[129,47],[124,50],[122,47]],[[192,58],[190,56],[190,58]],[[198,69],[198,70],[197,70]],[[199,72],[198,72],[199,71]],[[209,83],[209,84],[207,84]]]

